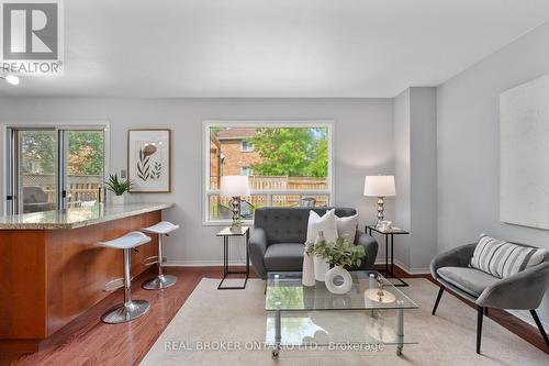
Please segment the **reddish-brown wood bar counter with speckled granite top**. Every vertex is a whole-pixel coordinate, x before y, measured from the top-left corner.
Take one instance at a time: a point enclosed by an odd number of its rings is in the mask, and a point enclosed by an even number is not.
[[[123,275],[122,251],[94,243],[158,223],[171,207],[100,203],[0,217],[0,354],[37,351],[42,340],[109,296],[104,285]],[[157,255],[152,239],[133,252],[132,277],[147,269],[143,259]]]

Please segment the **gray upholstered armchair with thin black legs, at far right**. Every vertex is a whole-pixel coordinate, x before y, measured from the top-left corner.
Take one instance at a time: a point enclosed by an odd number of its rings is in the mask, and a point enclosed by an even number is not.
[[[536,313],[536,309],[549,286],[549,254],[539,265],[502,279],[469,267],[475,246],[477,243],[458,246],[439,254],[430,263],[430,273],[440,284],[433,315],[437,311],[445,288],[474,302],[478,309],[477,353],[480,354],[482,319],[484,313],[488,313],[489,308],[529,310],[549,347],[547,333]]]

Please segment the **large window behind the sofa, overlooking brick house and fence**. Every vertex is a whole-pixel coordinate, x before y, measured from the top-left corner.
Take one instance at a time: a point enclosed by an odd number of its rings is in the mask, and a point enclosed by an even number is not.
[[[245,221],[260,207],[325,207],[333,197],[332,122],[204,122],[204,224],[231,222],[222,176],[249,176]]]

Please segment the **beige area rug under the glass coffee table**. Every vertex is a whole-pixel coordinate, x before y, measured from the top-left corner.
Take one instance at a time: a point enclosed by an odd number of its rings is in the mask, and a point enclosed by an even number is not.
[[[216,290],[217,279],[203,279],[160,335],[141,365],[549,365],[549,355],[490,319],[484,320],[482,355],[477,355],[477,312],[445,293],[437,315],[430,310],[438,288],[426,279],[410,279],[401,288],[418,306],[405,312],[403,356],[394,346],[382,351],[281,351],[255,348],[266,340],[264,281],[251,279],[246,290]],[[224,351],[198,351],[210,345]]]

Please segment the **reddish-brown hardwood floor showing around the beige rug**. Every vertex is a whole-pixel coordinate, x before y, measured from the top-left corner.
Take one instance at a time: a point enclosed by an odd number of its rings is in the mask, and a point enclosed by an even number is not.
[[[165,291],[146,291],[139,287],[143,280],[152,276],[154,268],[134,279],[133,298],[145,299],[152,304],[146,317],[125,324],[102,323],[101,314],[122,301],[122,290],[117,290],[43,341],[38,352],[16,359],[13,359],[14,356],[0,355],[0,365],[11,362],[18,366],[138,365],[200,280],[221,278],[221,267],[168,267],[166,271],[178,276],[178,282]],[[399,267],[395,267],[395,274],[402,278],[433,280],[429,275],[408,275]],[[549,354],[536,328],[501,310],[491,309],[489,317]]]

